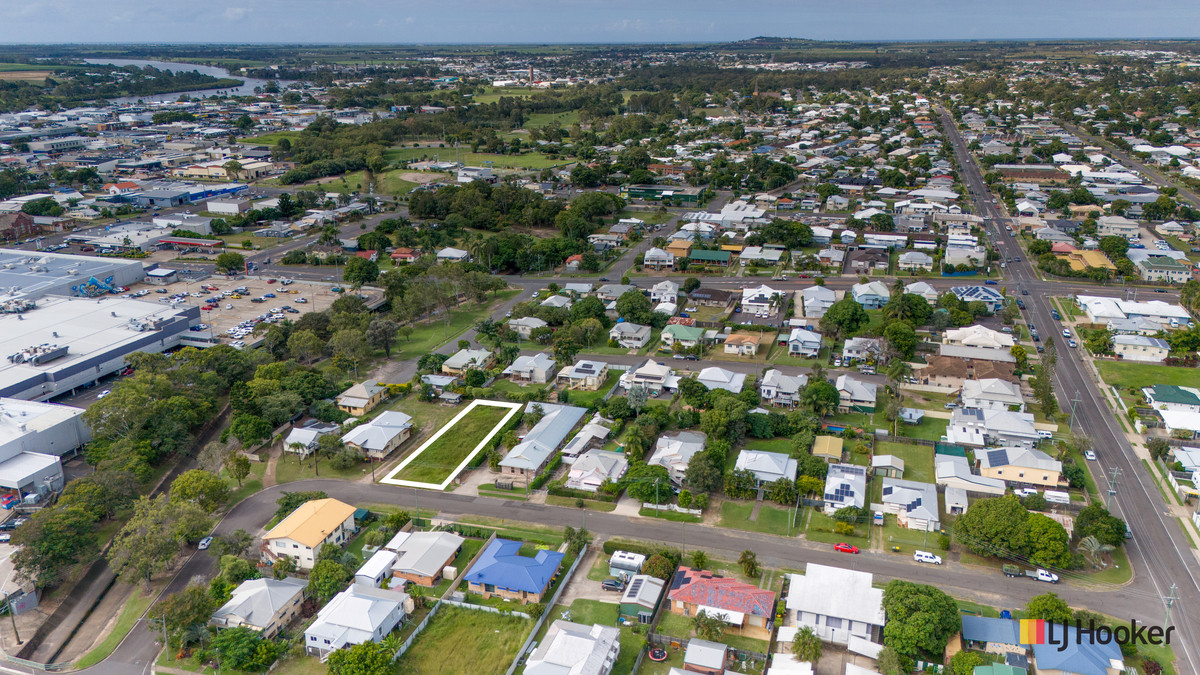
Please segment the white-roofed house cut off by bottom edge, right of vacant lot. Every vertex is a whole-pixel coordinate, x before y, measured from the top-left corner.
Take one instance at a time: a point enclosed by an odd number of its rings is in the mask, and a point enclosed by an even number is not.
[[[526,659],[526,675],[608,675],[620,653],[620,629],[556,620]]]

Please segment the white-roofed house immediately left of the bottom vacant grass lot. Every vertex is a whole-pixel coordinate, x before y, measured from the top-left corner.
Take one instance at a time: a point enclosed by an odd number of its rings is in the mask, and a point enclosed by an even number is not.
[[[305,651],[329,652],[364,643],[380,643],[404,620],[408,596],[359,584],[334,596],[304,632]]]

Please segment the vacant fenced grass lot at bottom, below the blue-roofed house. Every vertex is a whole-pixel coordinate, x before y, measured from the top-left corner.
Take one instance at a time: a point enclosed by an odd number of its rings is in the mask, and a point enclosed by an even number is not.
[[[532,627],[528,619],[443,608],[413,641],[396,673],[504,673]]]

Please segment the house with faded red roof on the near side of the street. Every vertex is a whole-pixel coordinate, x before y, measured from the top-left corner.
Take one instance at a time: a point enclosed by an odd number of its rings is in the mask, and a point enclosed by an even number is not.
[[[701,611],[720,616],[728,632],[758,640],[769,640],[775,628],[774,591],[704,569],[680,566],[676,571],[667,591],[667,610],[683,616]]]

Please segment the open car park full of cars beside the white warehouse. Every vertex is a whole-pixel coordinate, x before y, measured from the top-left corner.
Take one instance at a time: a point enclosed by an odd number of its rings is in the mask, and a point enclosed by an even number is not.
[[[204,328],[196,330],[198,336],[211,336],[221,344],[241,347],[253,345],[260,338],[250,334],[257,321],[296,321],[306,312],[329,309],[341,295],[334,288],[342,286],[310,281],[284,285],[278,279],[210,276],[203,281],[181,280],[167,286],[138,283],[130,287],[130,293],[149,291],[139,299],[163,304],[168,304],[169,298],[186,295],[184,305],[200,307]],[[235,293],[238,289],[245,292]]]

